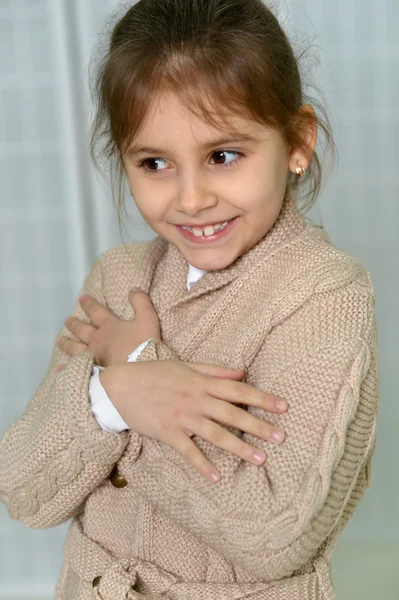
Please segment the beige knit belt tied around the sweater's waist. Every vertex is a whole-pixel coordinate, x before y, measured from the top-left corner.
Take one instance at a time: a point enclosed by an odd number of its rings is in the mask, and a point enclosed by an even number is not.
[[[101,600],[325,600],[317,571],[271,583],[184,582],[153,563],[138,558],[115,558],[84,532],[73,519],[64,546],[67,567]],[[324,579],[324,578],[323,578]],[[135,589],[136,588],[136,589]],[[137,591],[140,589],[140,592]]]

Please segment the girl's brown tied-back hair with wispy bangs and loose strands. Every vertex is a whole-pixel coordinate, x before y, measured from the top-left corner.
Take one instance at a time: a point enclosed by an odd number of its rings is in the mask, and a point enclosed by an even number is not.
[[[108,34],[105,52],[100,50],[91,80],[96,113],[90,152],[97,168],[98,158],[115,159],[110,170],[119,224],[125,209],[124,154],[150,99],[164,91],[178,94],[194,114],[220,129],[223,123],[231,130],[224,119],[229,114],[278,128],[291,147],[302,148],[308,156],[311,150],[303,134],[316,121],[335,158],[327,112],[303,91],[299,62],[304,54],[295,57],[272,9],[262,0],[140,0],[125,7]],[[311,104],[315,114],[301,110],[304,104]],[[291,190],[307,184],[304,212],[316,202],[322,184],[316,151],[304,177],[288,176]]]

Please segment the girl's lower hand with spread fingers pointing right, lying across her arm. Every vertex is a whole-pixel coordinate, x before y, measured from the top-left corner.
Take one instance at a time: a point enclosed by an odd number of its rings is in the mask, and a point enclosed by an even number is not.
[[[100,380],[109,398],[131,429],[174,448],[211,482],[219,474],[190,439],[204,440],[259,465],[265,455],[217,421],[273,443],[277,428],[234,404],[248,404],[277,414],[287,410],[278,396],[266,394],[242,379],[242,370],[179,360],[139,361],[101,371]],[[227,381],[226,381],[227,379]],[[283,435],[284,438],[284,435]],[[254,453],[260,454],[256,460]]]

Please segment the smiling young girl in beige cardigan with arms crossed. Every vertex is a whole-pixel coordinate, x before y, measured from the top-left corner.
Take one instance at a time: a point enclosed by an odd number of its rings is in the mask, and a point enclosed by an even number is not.
[[[93,156],[157,235],[93,263],[1,499],[72,518],[59,600],[332,599],[378,360],[368,271],[299,210],[328,119],[261,0],[140,0],[96,81]]]

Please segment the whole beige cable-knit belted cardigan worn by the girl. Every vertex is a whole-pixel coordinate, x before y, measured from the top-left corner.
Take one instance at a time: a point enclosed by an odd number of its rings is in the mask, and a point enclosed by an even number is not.
[[[246,383],[288,401],[283,415],[246,407],[285,441],[229,428],[266,452],[256,466],[194,436],[221,472],[212,484],[169,446],[103,431],[88,402],[93,355],[56,375],[66,357],[54,347],[0,443],[0,498],[28,527],[73,517],[57,600],[331,600],[331,553],[370,485],[375,449],[370,275],[288,194],[274,227],[232,265],[190,291],[187,266],[160,237],[121,245],[93,263],[84,290],[125,319],[130,288],[149,293],[163,341],[139,360],[246,369]],[[77,302],[74,314],[87,320]]]

